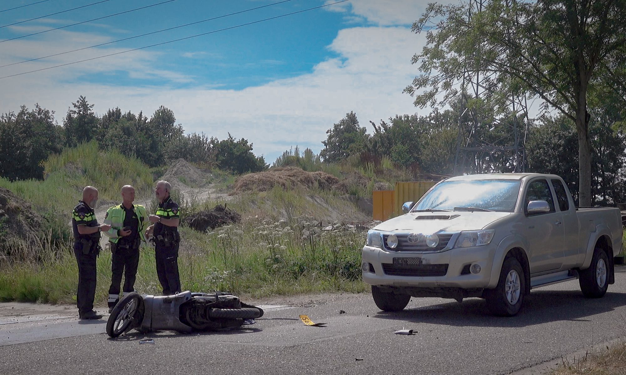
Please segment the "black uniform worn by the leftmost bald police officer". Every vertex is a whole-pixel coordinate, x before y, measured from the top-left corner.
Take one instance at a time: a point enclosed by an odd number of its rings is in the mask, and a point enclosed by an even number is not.
[[[93,314],[93,299],[96,294],[96,257],[100,254],[100,231],[93,234],[80,234],[79,225],[98,226],[93,209],[83,201],[78,201],[72,212],[74,231],[74,255],[78,262],[78,290],[76,306],[78,315]]]

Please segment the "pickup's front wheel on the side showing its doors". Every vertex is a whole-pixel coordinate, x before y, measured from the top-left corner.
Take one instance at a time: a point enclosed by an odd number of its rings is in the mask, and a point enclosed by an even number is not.
[[[524,301],[526,281],[520,262],[508,257],[502,264],[496,289],[486,289],[485,299],[490,311],[499,316],[514,316]]]

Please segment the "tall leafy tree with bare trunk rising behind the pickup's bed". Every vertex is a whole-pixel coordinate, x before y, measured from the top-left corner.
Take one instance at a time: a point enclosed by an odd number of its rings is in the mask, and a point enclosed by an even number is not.
[[[623,0],[487,0],[431,4],[413,24],[427,44],[413,57],[421,75],[405,91],[416,106],[441,106],[464,91],[464,74],[487,73],[490,100],[528,93],[576,124],[579,199],[591,204],[592,148],[588,96],[626,87],[626,2]],[[433,27],[433,25],[436,25]],[[619,96],[620,101],[626,98]]]

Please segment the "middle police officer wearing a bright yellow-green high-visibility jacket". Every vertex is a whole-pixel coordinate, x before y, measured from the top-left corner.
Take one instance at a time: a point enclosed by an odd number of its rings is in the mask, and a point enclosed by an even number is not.
[[[146,208],[135,201],[135,188],[121,188],[122,203],[106,211],[105,224],[111,229],[105,232],[111,248],[111,286],[109,287],[109,312],[120,300],[121,276],[124,274],[124,294],[135,291],[135,278],[139,264],[139,246],[146,241],[144,231],[148,226]]]

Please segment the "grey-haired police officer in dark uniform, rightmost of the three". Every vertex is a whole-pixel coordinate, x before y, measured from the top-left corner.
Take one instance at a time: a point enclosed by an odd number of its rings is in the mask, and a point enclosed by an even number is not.
[[[167,181],[156,183],[155,196],[159,201],[156,215],[148,216],[153,224],[146,229],[146,237],[154,236],[156,274],[163,287],[163,295],[180,292],[178,276],[178,204],[170,197],[172,186]]]

